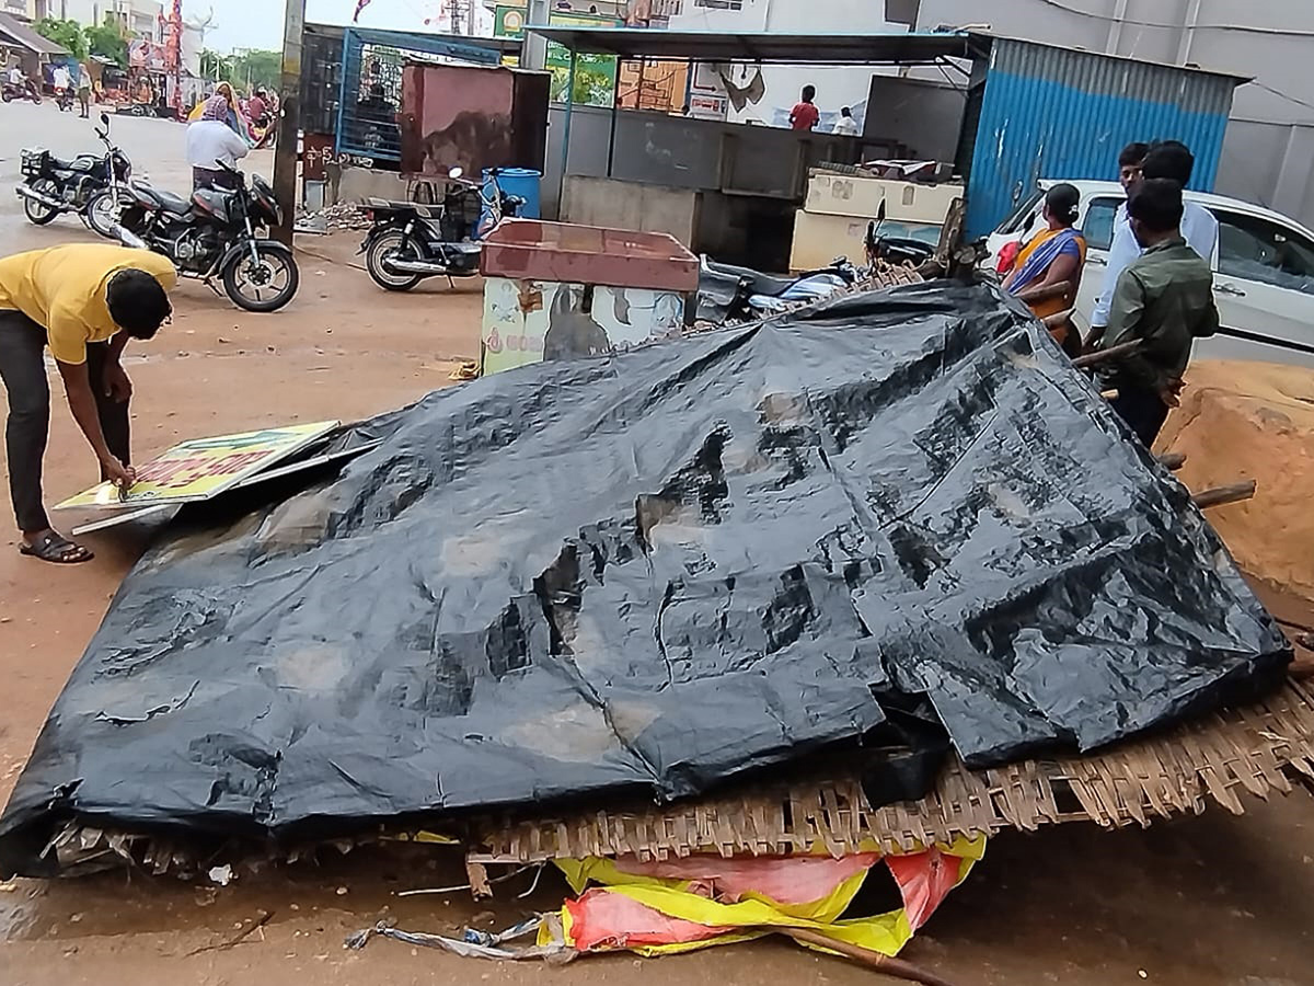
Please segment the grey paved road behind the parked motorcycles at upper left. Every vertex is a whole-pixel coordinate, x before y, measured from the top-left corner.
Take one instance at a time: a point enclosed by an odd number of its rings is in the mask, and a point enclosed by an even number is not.
[[[60,113],[53,100],[39,106],[30,103],[0,105],[0,245],[4,252],[50,246],[58,242],[59,231],[67,239],[96,235],[83,227],[74,216],[63,216],[51,226],[38,230],[22,214],[22,201],[13,195],[18,183],[18,160],[24,147],[45,147],[60,158],[76,154],[100,154],[102,145],[96,139],[91,120],[81,120],[78,112]],[[134,177],[146,177],[152,185],[171,192],[189,192],[192,170],[184,155],[184,126],[168,120],[110,114],[110,138],[124,149],[133,162]],[[272,176],[273,151],[252,151],[246,159],[247,171]]]

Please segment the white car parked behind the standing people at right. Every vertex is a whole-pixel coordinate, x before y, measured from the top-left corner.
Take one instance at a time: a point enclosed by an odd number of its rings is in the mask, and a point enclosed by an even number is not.
[[[1042,181],[989,237],[989,268],[1009,242],[1038,233],[1045,223]],[[1085,270],[1075,321],[1085,333],[1109,267],[1113,218],[1126,197],[1117,181],[1070,181],[1081,193],[1077,227],[1087,242]],[[1204,192],[1187,192],[1218,218],[1214,297],[1222,331],[1196,344],[1213,359],[1254,359],[1314,367],[1314,233],[1272,209]]]

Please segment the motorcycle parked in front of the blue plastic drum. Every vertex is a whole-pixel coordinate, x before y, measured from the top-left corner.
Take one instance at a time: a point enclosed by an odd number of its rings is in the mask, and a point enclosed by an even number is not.
[[[365,270],[385,291],[410,291],[426,277],[473,277],[480,272],[484,239],[506,216],[519,216],[520,196],[498,184],[489,172],[489,189],[463,177],[461,168],[447,172],[449,191],[442,205],[367,199],[373,225],[357,254]]]

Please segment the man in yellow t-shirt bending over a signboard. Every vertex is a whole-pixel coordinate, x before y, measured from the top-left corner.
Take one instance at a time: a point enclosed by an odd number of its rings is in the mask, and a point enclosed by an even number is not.
[[[51,530],[42,505],[41,461],[50,434],[46,346],[101,479],[126,489],[135,481],[127,465],[133,384],[120,356],[129,339],[150,339],[168,319],[175,284],[173,264],[146,250],[71,245],[0,258],[5,458],[24,555],[62,564],[92,557]]]

